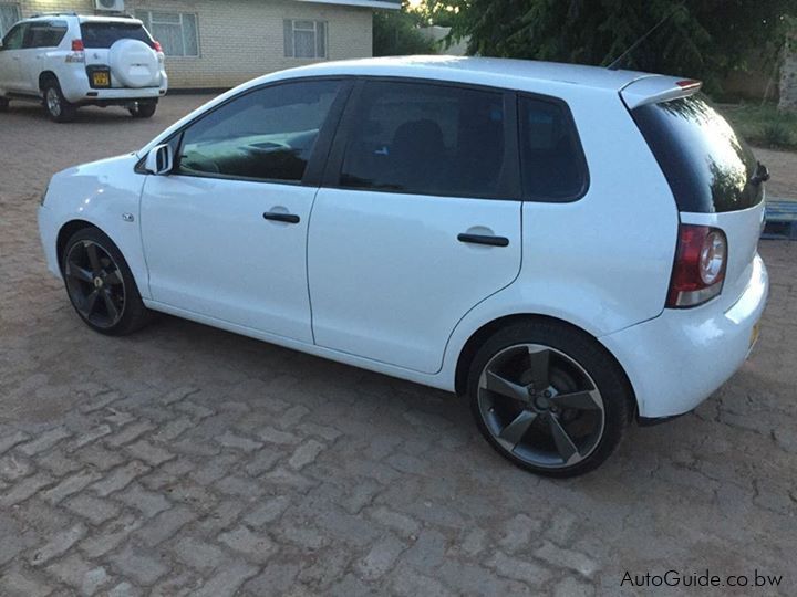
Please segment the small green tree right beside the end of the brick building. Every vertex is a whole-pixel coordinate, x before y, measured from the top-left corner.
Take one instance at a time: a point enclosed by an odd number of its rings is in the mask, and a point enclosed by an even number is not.
[[[373,55],[403,56],[432,54],[435,44],[418,31],[423,14],[406,2],[401,10],[377,10],[373,17]]]

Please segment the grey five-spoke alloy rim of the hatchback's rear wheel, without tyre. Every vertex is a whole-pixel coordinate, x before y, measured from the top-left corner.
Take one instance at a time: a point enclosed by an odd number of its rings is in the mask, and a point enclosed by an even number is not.
[[[601,392],[581,365],[550,346],[500,350],[482,370],[477,391],[479,413],[495,441],[529,465],[578,464],[603,436]]]

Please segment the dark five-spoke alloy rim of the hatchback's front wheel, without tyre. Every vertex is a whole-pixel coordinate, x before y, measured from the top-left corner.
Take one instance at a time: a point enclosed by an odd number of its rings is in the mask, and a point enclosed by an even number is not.
[[[110,328],[122,318],[125,285],[118,265],[100,244],[83,240],[74,243],[64,261],[70,298],[90,323]]]

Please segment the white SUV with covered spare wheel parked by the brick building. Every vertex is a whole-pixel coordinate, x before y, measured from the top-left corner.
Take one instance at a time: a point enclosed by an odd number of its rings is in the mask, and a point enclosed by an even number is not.
[[[0,46],[0,109],[10,100],[43,100],[59,123],[84,105],[148,118],[167,83],[161,44],[137,19],[37,15],[12,27]]]

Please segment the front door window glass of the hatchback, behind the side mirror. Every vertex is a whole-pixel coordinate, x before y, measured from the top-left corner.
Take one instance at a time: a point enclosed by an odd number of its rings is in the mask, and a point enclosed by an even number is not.
[[[190,125],[178,170],[300,181],[340,83],[286,83],[248,93]]]

